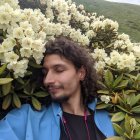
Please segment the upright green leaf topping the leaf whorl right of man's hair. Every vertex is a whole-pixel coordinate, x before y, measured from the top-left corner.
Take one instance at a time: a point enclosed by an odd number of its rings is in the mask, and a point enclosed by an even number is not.
[[[113,74],[111,73],[110,70],[107,70],[105,72],[104,78],[105,78],[105,84],[107,85],[107,87],[111,88],[114,79],[113,79]]]

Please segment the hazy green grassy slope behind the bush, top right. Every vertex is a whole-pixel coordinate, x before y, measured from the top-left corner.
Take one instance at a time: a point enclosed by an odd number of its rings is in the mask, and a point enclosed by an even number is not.
[[[90,12],[97,12],[119,23],[119,32],[130,35],[133,42],[140,42],[140,6],[119,4],[104,0],[73,0],[83,4]]]

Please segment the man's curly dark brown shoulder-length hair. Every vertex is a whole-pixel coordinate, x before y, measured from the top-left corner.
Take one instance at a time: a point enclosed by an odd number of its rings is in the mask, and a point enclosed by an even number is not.
[[[71,61],[76,69],[84,67],[86,76],[81,81],[81,91],[83,95],[83,103],[88,104],[97,96],[97,73],[94,69],[94,59],[90,50],[84,46],[72,41],[67,37],[60,36],[54,41],[48,42],[46,45],[45,56],[48,54],[57,54]]]

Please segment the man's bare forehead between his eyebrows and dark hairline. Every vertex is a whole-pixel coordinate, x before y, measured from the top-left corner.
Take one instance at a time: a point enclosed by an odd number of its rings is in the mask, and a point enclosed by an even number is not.
[[[56,65],[74,67],[72,62],[63,56],[59,56],[57,54],[49,54],[49,55],[45,56],[44,62],[43,62],[43,67],[49,68],[49,67],[53,67]]]

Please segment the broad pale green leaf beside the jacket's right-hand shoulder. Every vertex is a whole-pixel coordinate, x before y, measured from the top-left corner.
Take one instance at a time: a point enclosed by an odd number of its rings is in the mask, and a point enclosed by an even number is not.
[[[125,118],[125,113],[117,112],[112,116],[111,121],[112,122],[119,122],[119,121],[122,121],[124,118]]]

